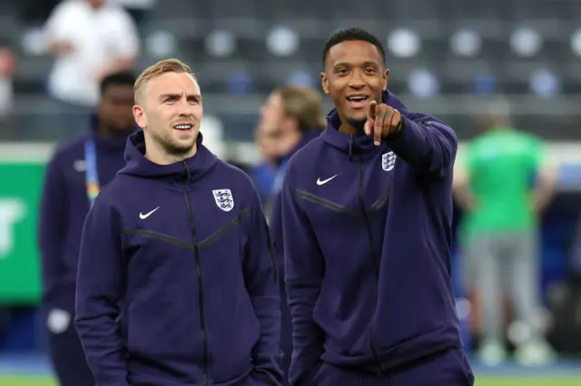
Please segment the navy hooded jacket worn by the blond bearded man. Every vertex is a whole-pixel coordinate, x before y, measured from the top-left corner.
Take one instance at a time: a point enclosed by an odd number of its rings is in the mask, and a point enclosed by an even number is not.
[[[197,146],[158,165],[143,131],[132,135],[127,166],[86,218],[75,323],[99,386],[281,383],[278,277],[258,194],[201,134]]]

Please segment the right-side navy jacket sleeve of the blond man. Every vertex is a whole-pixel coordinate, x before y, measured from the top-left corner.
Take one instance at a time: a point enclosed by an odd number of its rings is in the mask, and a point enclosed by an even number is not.
[[[261,338],[252,352],[254,371],[272,385],[282,383],[281,295],[271,233],[260,198],[252,188],[250,236],[245,246],[244,282],[254,313],[261,324]]]

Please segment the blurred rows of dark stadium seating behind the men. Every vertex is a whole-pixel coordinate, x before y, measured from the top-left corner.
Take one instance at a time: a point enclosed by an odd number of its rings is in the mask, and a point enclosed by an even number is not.
[[[268,92],[285,82],[318,86],[330,34],[361,26],[386,44],[390,90],[414,110],[451,123],[461,139],[478,132],[475,116],[498,95],[517,126],[548,140],[578,138],[581,3],[575,0],[275,3],[164,0],[143,30],[136,69],[167,56],[190,63],[206,111],[233,122],[225,124],[226,138],[251,140]],[[50,116],[39,96],[53,59],[32,50],[35,24],[15,23],[8,11],[0,41],[9,39],[22,57],[15,91],[23,103],[15,105],[26,106],[16,112]]]

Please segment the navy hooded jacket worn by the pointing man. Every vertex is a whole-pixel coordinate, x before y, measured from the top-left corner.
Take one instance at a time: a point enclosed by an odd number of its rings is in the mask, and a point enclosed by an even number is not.
[[[460,346],[451,283],[457,138],[390,93],[402,130],[379,146],[328,128],[291,159],[282,192],[291,384],[320,362],[385,373]]]

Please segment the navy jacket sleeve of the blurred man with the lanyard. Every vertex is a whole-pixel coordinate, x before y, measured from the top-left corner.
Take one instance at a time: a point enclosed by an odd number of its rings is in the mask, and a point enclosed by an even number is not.
[[[58,154],[48,163],[44,175],[44,188],[40,203],[38,246],[41,256],[44,298],[56,299],[55,292],[63,275],[63,253],[69,207],[66,180]],[[51,306],[74,311],[74,296]]]

